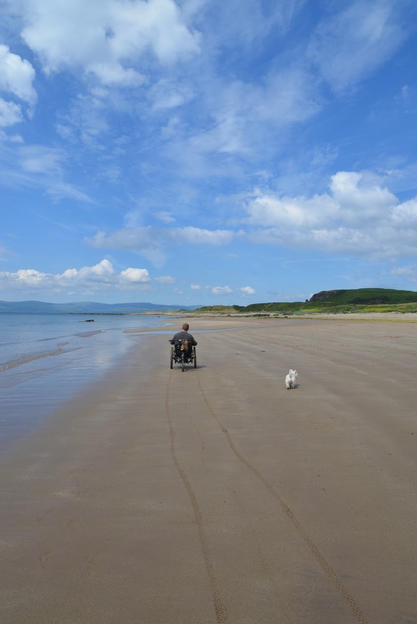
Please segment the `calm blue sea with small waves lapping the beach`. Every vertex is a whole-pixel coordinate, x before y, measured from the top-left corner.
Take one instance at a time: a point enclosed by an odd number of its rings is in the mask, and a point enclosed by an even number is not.
[[[139,338],[125,329],[171,324],[156,315],[0,313],[0,451],[117,366]]]

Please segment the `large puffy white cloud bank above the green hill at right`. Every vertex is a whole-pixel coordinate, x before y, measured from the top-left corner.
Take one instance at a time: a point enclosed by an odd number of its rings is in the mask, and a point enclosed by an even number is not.
[[[313,197],[255,192],[244,222],[253,243],[395,257],[417,253],[417,198],[400,203],[370,172],[338,172]]]

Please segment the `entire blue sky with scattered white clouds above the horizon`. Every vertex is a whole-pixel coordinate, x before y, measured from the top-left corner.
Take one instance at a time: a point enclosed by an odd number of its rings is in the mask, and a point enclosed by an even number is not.
[[[417,290],[415,0],[0,11],[0,300]]]

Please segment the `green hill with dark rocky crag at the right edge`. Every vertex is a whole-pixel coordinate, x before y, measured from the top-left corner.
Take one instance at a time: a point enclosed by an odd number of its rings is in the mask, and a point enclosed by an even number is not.
[[[417,293],[413,290],[393,290],[391,288],[355,288],[350,290],[322,290],[313,295],[309,301],[326,301],[326,303],[416,303]]]

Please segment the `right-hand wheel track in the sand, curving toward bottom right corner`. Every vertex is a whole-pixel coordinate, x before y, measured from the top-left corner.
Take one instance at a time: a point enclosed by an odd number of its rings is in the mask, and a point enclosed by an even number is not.
[[[207,395],[205,394],[204,389],[202,387],[202,383],[201,383],[201,379],[200,379],[200,371],[198,371],[198,370],[197,370],[197,381],[199,383],[199,388],[200,388],[200,391],[202,393],[204,402],[205,402],[205,404],[207,406],[207,409],[209,410],[210,414],[213,416],[213,418],[217,422],[217,424],[220,427],[220,429],[222,429],[223,434],[225,434],[225,436],[227,437],[227,442],[228,442],[228,445],[230,446],[230,449],[233,451],[235,456],[243,464],[245,464],[245,466],[251,472],[253,472],[253,474],[260,481],[262,481],[263,485],[265,485],[265,487],[267,488],[268,492],[270,492],[270,494],[272,494],[273,498],[278,503],[278,505],[280,505],[280,507],[283,510],[284,514],[292,522],[292,524],[295,527],[295,529],[297,529],[298,534],[302,537],[302,539],[305,541],[305,543],[307,544],[307,546],[310,549],[310,551],[313,553],[316,561],[320,565],[320,567],[323,570],[323,572],[325,573],[326,577],[331,580],[331,582],[335,586],[336,590],[340,593],[341,597],[345,601],[345,603],[348,606],[348,608],[350,608],[351,612],[353,612],[353,615],[355,616],[356,620],[358,622],[360,622],[360,624],[370,624],[370,621],[366,617],[365,613],[363,613],[363,611],[359,607],[359,605],[356,602],[355,598],[353,598],[353,596],[351,595],[349,590],[345,587],[345,585],[343,585],[343,583],[341,582],[340,578],[336,574],[335,570],[333,570],[333,568],[331,567],[330,563],[328,563],[328,561],[326,560],[324,555],[321,554],[321,552],[318,549],[318,547],[316,546],[315,542],[313,542],[312,538],[310,537],[310,535],[308,535],[308,533],[304,529],[303,525],[300,523],[300,521],[297,519],[297,517],[295,517],[294,513],[292,512],[290,507],[288,507],[288,505],[285,502],[285,500],[283,500],[282,497],[280,497],[278,492],[272,487],[270,482],[268,482],[267,479],[265,479],[263,474],[261,474],[259,472],[259,470],[257,468],[255,468],[255,466],[253,466],[250,463],[250,461],[248,461],[246,459],[246,457],[243,457],[243,455],[237,450],[237,448],[235,447],[235,444],[233,443],[232,437],[230,436],[230,433],[227,431],[227,429],[223,425],[222,421],[220,421],[220,418],[217,416],[216,412],[214,411],[212,405],[209,402],[209,399],[207,399]]]

